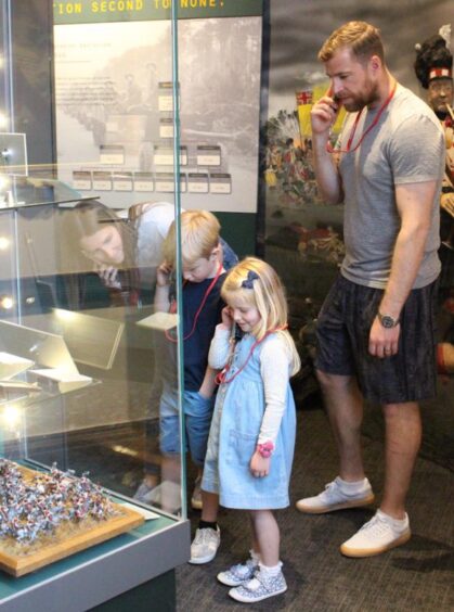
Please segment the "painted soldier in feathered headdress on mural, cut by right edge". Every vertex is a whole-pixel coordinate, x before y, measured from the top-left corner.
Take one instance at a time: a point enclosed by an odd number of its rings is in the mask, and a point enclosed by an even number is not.
[[[415,73],[424,89],[427,102],[437,117],[445,137],[445,173],[440,196],[441,275],[439,303],[443,309],[440,321],[442,342],[437,347],[441,373],[454,372],[454,116],[453,55],[447,47],[451,26],[442,26],[440,34],[416,46]],[[450,317],[451,314],[451,317]]]

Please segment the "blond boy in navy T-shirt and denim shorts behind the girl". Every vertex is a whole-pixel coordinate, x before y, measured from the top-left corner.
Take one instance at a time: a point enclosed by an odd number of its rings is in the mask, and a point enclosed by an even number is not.
[[[215,215],[207,211],[186,211],[181,215],[181,253],[183,267],[183,355],[185,417],[185,438],[192,460],[198,468],[196,487],[205,461],[208,434],[215,404],[216,372],[208,367],[208,352],[216,326],[221,321],[224,303],[220,296],[225,270],[222,264],[220,225]],[[155,306],[157,311],[176,311],[172,295],[171,273],[176,263],[176,227],[163,244],[164,263],[157,270]],[[167,337],[169,342],[173,339]],[[163,380],[163,395],[159,405],[160,450],[163,476],[178,480],[179,471],[179,415],[177,386]],[[173,472],[173,475],[172,475]],[[177,477],[176,477],[177,476]],[[197,500],[196,490],[192,501]],[[196,537],[191,546],[191,562],[211,561],[220,544],[220,530],[216,518],[218,500],[216,496],[203,494],[203,517]],[[194,503],[193,503],[194,505]]]

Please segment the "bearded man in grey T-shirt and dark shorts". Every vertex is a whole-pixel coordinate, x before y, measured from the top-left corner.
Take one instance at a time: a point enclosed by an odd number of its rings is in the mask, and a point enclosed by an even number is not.
[[[432,308],[444,142],[432,111],[389,73],[374,26],[345,24],[319,59],[332,86],[311,113],[314,165],[324,200],[345,203],[346,257],[317,320],[315,366],[340,471],[297,508],[320,513],[374,501],[360,430],[363,397],[380,404],[380,508],[340,547],[348,557],[368,557],[411,536],[405,497],[421,436],[417,403],[436,391]],[[341,104],[349,115],[333,150],[329,130]]]

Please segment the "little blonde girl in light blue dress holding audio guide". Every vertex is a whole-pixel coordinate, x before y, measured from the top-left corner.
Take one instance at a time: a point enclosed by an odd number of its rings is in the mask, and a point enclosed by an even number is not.
[[[300,367],[287,328],[284,288],[268,264],[248,257],[226,276],[228,306],[216,329],[209,365],[220,388],[211,423],[202,488],[226,508],[249,510],[250,559],[218,574],[242,602],[287,589],[273,509],[289,505],[295,446],[295,403],[289,377]],[[237,326],[243,337],[235,344]]]

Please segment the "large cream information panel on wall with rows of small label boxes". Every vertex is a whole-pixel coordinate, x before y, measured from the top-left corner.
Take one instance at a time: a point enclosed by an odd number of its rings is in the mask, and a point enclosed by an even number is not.
[[[180,0],[178,86],[169,5],[54,2],[59,178],[115,207],[174,194],[178,92],[182,206],[254,213],[261,2]]]

